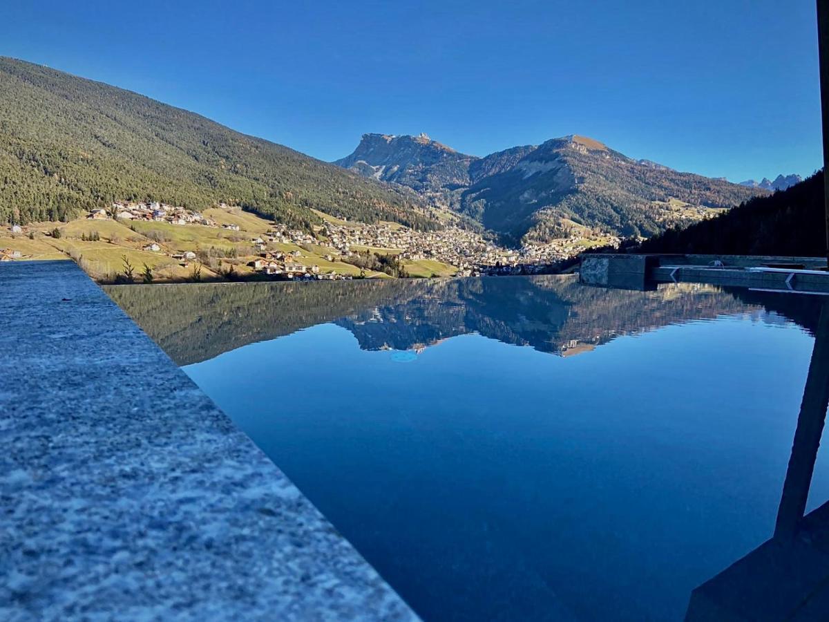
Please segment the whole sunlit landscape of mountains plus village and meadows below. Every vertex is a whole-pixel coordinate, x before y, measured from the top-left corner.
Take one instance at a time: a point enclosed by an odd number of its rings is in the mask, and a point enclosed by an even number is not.
[[[0,87],[0,260],[99,282],[537,274],[769,194],[578,134],[482,158],[364,134],[324,163],[24,61]]]

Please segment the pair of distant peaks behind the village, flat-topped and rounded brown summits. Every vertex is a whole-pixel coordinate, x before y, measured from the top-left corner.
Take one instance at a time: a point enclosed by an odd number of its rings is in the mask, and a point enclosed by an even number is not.
[[[652,236],[684,217],[701,219],[705,208],[734,207],[768,192],[628,158],[577,134],[483,158],[426,134],[364,134],[335,163],[409,187],[512,242],[547,241],[578,226]],[[698,209],[689,214],[682,207]]]

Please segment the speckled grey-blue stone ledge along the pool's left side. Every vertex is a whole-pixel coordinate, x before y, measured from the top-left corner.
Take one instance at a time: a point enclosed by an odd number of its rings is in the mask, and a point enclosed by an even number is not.
[[[0,264],[0,619],[416,620],[69,261]]]

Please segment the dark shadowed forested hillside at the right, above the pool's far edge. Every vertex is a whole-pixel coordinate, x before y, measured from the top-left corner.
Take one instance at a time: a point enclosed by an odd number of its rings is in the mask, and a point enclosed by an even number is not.
[[[633,251],[822,257],[827,252],[823,173],[686,229],[669,229]]]

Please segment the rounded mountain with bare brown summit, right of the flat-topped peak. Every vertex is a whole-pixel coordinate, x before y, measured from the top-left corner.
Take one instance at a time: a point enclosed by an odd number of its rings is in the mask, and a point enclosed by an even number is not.
[[[652,236],[686,221],[671,200],[733,207],[763,190],[641,163],[582,136],[553,138],[465,192],[461,211],[524,241],[567,235],[569,221],[622,236]],[[696,214],[691,216],[693,212]]]

